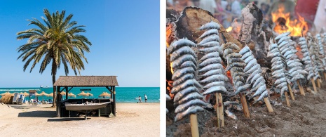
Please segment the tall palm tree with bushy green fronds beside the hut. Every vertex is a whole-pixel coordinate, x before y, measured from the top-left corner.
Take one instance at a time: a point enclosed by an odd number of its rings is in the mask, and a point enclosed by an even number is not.
[[[61,63],[64,65],[64,72],[67,76],[69,73],[69,66],[74,70],[75,75],[77,71],[80,74],[81,70],[85,70],[83,60],[87,62],[84,52],[90,52],[88,47],[92,44],[88,39],[80,35],[79,32],[86,32],[83,25],[76,26],[76,21],[70,21],[72,14],[64,18],[65,11],[59,13],[49,13],[47,9],[43,10],[46,18],[42,18],[45,24],[42,24],[36,18],[29,21],[29,25],[36,25],[37,28],[32,28],[22,32],[18,32],[17,39],[28,39],[27,44],[20,46],[17,50],[21,52],[18,59],[25,62],[23,70],[27,69],[29,63],[32,63],[30,72],[37,63],[41,61],[39,72],[42,74],[48,64],[51,63],[52,82],[55,83],[55,74],[60,68]],[[68,66],[69,64],[69,66]],[[53,86],[53,107],[55,107],[55,87]]]

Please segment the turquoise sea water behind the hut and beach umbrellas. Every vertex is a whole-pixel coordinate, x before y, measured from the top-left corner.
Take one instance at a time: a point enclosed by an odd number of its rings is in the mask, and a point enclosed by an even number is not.
[[[84,91],[84,92],[92,93],[93,96],[87,96],[87,97],[77,96],[77,94],[81,93],[81,90],[83,89],[90,89],[90,91]],[[7,91],[9,91],[10,93],[15,93],[15,92],[29,93],[29,90],[36,90],[37,93],[41,93],[42,91],[44,91],[45,93],[53,93],[52,87],[48,87],[48,88],[36,87],[36,88],[0,88],[0,94],[5,93]],[[72,88],[72,90],[69,91],[69,93],[74,93],[76,95],[76,98],[99,98],[102,92],[110,93],[105,87],[74,87]],[[136,100],[135,98],[138,98],[138,96],[140,96],[142,98],[142,102],[144,102],[144,94],[147,95],[148,98],[147,101],[149,103],[160,102],[159,87],[116,87],[116,103],[137,103],[138,100]],[[53,97],[47,97],[47,96],[39,96],[38,98],[39,100],[53,99]],[[65,99],[66,97],[63,96],[63,98]]]

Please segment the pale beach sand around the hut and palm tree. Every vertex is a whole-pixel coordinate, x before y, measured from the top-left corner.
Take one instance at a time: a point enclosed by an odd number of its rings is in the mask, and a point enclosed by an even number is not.
[[[55,117],[51,105],[0,104],[1,136],[159,136],[159,103],[117,103],[116,117]],[[8,107],[8,108],[6,108]]]

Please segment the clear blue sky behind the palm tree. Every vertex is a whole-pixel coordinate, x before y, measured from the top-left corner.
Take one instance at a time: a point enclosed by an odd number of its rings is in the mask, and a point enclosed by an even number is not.
[[[50,13],[65,10],[78,25],[86,25],[82,34],[92,46],[81,75],[116,75],[121,87],[159,86],[159,1],[8,0],[0,4],[0,87],[52,86],[50,65],[43,74],[39,65],[29,73],[30,66],[23,72],[25,63],[17,60],[16,49],[27,39],[18,41],[16,33],[35,27],[27,26],[27,19],[41,20],[44,8]],[[60,75],[63,67],[56,78]]]

